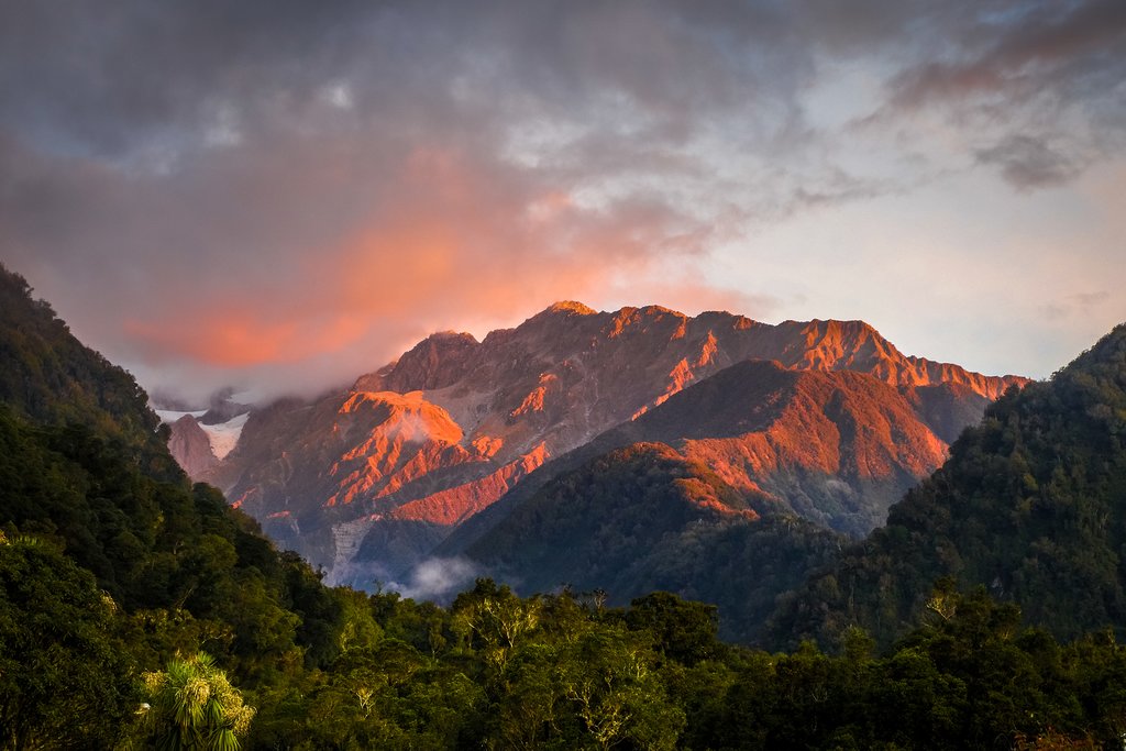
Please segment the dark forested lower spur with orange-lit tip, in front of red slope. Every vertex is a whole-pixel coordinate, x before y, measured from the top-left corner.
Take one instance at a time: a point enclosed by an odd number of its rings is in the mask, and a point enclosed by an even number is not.
[[[760,519],[753,503],[671,447],[634,444],[555,477],[466,553],[529,593],[601,589],[625,604],[665,590],[713,602],[721,633],[752,642],[775,598],[840,544],[793,516]]]

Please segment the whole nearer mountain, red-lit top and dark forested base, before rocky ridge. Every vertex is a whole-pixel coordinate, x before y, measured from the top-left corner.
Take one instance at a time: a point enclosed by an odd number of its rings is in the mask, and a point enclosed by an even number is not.
[[[861,373],[736,363],[545,465],[436,553],[521,592],[703,599],[725,638],[757,642],[775,599],[843,544],[828,529],[883,524],[945,459],[910,395]]]

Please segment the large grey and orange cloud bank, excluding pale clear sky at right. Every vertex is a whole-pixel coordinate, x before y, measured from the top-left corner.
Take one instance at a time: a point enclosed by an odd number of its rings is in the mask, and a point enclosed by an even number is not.
[[[911,110],[1009,107],[967,160],[1072,179],[1124,127],[1121,8],[3,3],[0,256],[154,378],[346,378],[452,320],[690,267],[749,217],[902,189],[811,114],[838,63],[887,82],[882,150]]]

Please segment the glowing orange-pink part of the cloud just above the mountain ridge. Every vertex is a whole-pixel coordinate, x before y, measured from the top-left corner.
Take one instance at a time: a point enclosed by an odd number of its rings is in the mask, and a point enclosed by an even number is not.
[[[313,168],[305,190],[325,181],[319,169],[337,167]],[[348,383],[436,330],[515,325],[558,299],[715,298],[688,268],[699,239],[658,202],[580,206],[566,186],[443,147],[388,162],[381,185],[355,200],[332,224],[292,206],[286,226],[328,229],[269,236],[283,244],[254,266],[195,284],[185,277],[196,269],[185,268],[146,306],[157,313],[126,320],[132,355],[166,372],[209,368],[309,391]],[[674,271],[661,259],[679,259]],[[683,294],[665,296],[681,283]]]

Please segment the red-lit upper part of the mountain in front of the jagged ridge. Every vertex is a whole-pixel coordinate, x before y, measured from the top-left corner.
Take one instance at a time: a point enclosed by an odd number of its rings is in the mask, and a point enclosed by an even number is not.
[[[762,361],[739,363],[619,431],[670,442],[736,490],[850,535],[882,525],[947,449],[874,376]]]

